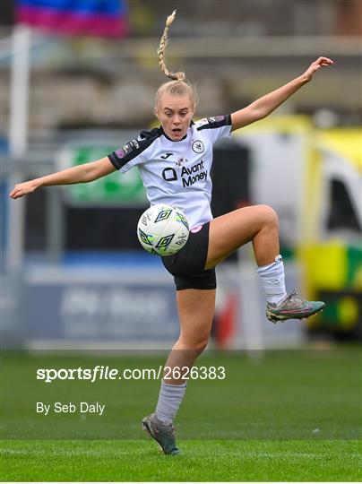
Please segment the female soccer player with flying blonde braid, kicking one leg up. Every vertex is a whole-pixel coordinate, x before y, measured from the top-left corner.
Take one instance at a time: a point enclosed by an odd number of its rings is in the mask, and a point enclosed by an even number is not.
[[[319,57],[306,72],[276,91],[227,116],[194,122],[196,94],[185,73],[172,73],[165,65],[168,29],[176,12],[168,16],[159,44],[159,65],[172,81],[159,87],[155,115],[160,127],[142,131],[137,140],[101,160],[16,185],[10,196],[19,198],[40,186],[86,183],[115,170],[125,173],[135,165],[152,204],[168,203],[185,212],[191,228],[188,241],[176,255],[162,257],[174,276],[180,336],[169,353],[167,367],[192,367],[207,345],[215,307],[215,266],[229,254],[253,242],[257,272],[266,294],[266,315],[272,322],[305,318],[321,311],[323,302],[305,301],[285,290],[284,267],[279,255],[278,216],[266,205],[250,206],[212,219],[212,145],[243,126],[267,117],[298,91],[324,66]],[[192,176],[190,176],[192,174]],[[162,381],[156,411],[142,420],[142,427],[165,454],[178,454],[173,419],[185,394],[186,380],[172,374]],[[174,377],[177,376],[177,377]]]

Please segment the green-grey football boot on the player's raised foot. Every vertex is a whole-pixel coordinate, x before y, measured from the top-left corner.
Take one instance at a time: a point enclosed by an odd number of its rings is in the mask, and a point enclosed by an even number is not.
[[[285,321],[286,319],[303,319],[322,311],[325,303],[322,301],[304,301],[297,298],[297,292],[293,290],[280,304],[266,303],[266,317],[272,323]]]

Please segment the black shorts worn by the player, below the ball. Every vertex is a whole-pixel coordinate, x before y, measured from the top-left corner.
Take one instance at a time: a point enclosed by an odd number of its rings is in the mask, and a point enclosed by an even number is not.
[[[175,255],[161,257],[163,265],[174,276],[177,290],[216,288],[215,269],[205,271],[209,247],[210,222],[197,231],[190,231],[185,246]]]

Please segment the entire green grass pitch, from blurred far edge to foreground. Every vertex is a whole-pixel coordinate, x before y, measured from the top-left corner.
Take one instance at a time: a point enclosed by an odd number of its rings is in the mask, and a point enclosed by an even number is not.
[[[3,481],[360,481],[358,348],[271,351],[258,363],[206,354],[223,381],[194,380],[177,414],[179,456],[143,436],[159,381],[36,382],[37,367],[157,367],[159,356],[7,355]],[[104,416],[36,415],[34,404],[103,400]]]

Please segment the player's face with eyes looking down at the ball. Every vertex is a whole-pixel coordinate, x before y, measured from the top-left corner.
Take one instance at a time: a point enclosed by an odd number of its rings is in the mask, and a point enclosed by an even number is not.
[[[191,118],[194,116],[194,107],[187,95],[173,96],[165,93],[159,99],[159,106],[155,112],[163,131],[171,140],[179,141],[187,133]]]

